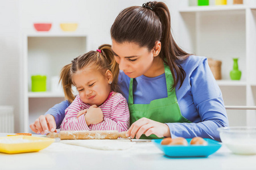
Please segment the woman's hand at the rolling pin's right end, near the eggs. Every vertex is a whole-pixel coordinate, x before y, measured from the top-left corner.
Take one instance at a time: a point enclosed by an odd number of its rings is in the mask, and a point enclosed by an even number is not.
[[[145,117],[140,118],[131,125],[126,133],[126,137],[134,138],[136,135],[136,139],[139,139],[142,134],[145,134],[147,137],[151,134],[155,134],[159,138],[171,137],[170,129],[166,124]]]

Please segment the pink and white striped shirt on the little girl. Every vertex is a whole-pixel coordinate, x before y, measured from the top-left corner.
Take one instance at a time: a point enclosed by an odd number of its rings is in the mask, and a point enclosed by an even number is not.
[[[82,102],[77,95],[75,100],[65,109],[65,118],[60,125],[61,130],[117,130],[126,131],[130,126],[130,113],[125,97],[116,92],[110,92],[108,99],[99,106],[104,115],[104,121],[87,126],[84,114],[77,118],[77,113],[89,109],[90,105]]]

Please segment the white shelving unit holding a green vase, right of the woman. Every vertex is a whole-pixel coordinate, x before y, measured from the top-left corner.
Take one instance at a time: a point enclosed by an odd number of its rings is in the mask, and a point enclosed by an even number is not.
[[[179,42],[189,53],[222,61],[225,105],[256,105],[256,6],[181,6]],[[242,77],[230,80],[233,59]],[[256,126],[256,111],[227,110],[230,126]]]

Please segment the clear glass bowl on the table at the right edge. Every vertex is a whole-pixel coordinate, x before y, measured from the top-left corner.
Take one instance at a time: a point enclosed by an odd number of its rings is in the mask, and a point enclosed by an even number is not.
[[[256,127],[218,128],[222,143],[234,154],[256,154]]]

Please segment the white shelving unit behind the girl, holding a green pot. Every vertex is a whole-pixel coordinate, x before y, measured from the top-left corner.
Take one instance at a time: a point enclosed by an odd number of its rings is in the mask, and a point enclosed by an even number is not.
[[[35,32],[23,38],[23,112],[22,129],[31,132],[28,125],[53,105],[64,100],[64,93],[52,91],[51,78],[59,76],[63,66],[73,58],[88,52],[88,36],[82,33]],[[31,92],[31,75],[47,76],[46,92]]]

